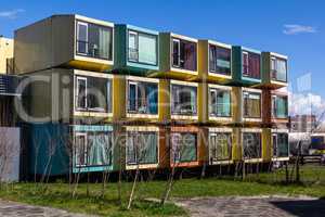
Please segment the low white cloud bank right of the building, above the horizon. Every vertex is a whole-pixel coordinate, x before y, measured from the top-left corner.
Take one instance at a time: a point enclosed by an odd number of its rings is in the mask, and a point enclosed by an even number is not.
[[[321,95],[313,93],[292,93],[289,92],[289,114],[322,115],[325,112],[325,100]]]

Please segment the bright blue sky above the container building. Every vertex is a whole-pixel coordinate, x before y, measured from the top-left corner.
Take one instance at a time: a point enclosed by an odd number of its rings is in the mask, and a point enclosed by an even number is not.
[[[325,98],[323,0],[47,0],[3,1],[0,35],[55,13],[78,13],[195,38],[243,44],[289,56],[289,79],[311,74],[311,92]]]

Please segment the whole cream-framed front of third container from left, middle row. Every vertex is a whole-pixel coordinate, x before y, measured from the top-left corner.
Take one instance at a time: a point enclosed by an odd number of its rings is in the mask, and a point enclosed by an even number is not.
[[[170,106],[172,120],[197,120],[197,84],[171,80]]]

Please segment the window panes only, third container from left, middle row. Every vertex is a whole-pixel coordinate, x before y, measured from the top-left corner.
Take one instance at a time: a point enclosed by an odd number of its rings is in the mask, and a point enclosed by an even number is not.
[[[171,86],[171,113],[174,115],[196,115],[197,88],[181,85]]]

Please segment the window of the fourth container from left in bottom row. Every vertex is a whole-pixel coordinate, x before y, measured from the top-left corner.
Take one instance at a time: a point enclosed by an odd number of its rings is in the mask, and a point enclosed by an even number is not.
[[[232,133],[212,132],[209,135],[210,162],[232,158]]]

